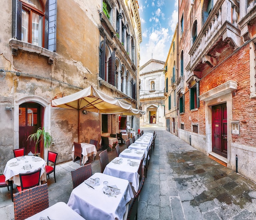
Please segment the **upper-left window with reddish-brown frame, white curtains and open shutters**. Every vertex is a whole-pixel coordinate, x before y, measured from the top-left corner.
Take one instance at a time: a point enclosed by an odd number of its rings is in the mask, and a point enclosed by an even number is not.
[[[13,5],[12,37],[56,51],[56,0],[18,0]]]

